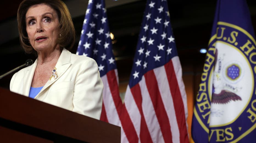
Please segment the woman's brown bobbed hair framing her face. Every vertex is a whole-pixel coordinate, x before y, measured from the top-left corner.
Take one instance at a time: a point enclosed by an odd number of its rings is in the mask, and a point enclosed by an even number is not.
[[[57,44],[61,50],[65,47],[71,50],[75,42],[75,28],[67,6],[61,0],[24,0],[20,3],[17,13],[18,30],[20,34],[20,43],[26,53],[37,53],[30,45],[26,31],[26,13],[27,10],[38,4],[46,4],[57,12],[60,23],[60,34]]]

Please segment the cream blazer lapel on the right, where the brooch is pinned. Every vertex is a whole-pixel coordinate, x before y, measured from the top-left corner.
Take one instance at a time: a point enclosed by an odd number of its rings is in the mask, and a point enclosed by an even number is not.
[[[37,96],[35,98],[41,96],[41,94],[44,92],[44,90],[46,90],[50,85],[52,85],[55,81],[57,81],[63,75],[63,73],[66,72],[68,67],[71,65],[70,58],[71,58],[71,52],[69,52],[68,50],[66,50],[64,48],[60,54],[60,57],[59,57],[56,65],[55,65],[56,73],[57,73],[58,77],[56,79],[52,78],[51,80],[48,80],[46,82],[46,84],[44,85],[44,87],[42,88],[42,90],[37,94]]]

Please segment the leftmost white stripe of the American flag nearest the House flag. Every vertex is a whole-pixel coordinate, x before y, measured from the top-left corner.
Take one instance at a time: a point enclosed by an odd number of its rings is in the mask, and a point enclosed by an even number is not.
[[[135,128],[137,136],[140,139],[141,115],[140,115],[140,111],[138,109],[138,106],[135,103],[135,100],[132,96],[129,85],[126,88],[126,93],[125,93],[125,98],[124,98],[124,106],[125,106],[128,114],[129,114],[129,116],[130,116],[130,119],[131,119],[132,124]]]

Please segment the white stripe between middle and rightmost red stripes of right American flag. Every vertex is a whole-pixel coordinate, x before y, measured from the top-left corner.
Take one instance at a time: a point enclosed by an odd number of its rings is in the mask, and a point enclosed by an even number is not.
[[[167,113],[172,132],[172,142],[180,142],[180,132],[175,114],[172,95],[169,87],[168,78],[165,71],[165,66],[154,69],[157,85],[162,97],[165,112]]]

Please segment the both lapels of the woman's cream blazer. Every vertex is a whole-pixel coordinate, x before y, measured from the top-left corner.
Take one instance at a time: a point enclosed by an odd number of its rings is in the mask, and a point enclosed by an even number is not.
[[[71,59],[71,52],[69,52],[68,50],[63,48],[63,50],[60,54],[60,57],[55,65],[56,73],[57,73],[58,77],[56,79],[52,78],[51,80],[48,80],[46,82],[46,84],[44,85],[44,87],[42,88],[42,90],[37,94],[37,96],[35,98],[41,96],[41,94],[44,93],[45,90],[48,89],[48,87],[50,85],[52,85],[55,81],[57,81],[63,75],[63,73],[66,72],[68,67],[71,65],[70,59]],[[29,91],[30,91],[32,79],[33,79],[33,76],[35,73],[35,68],[37,67],[37,63],[38,63],[38,59],[35,61],[35,63],[33,65],[31,65],[31,68],[29,68],[27,71],[25,71],[26,73],[24,74],[24,79],[27,79],[26,81],[24,80],[24,82],[23,82],[23,85],[24,85],[23,86],[23,95],[25,95],[25,96],[29,96]]]

